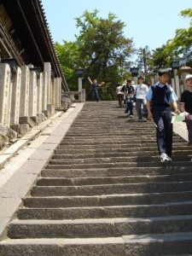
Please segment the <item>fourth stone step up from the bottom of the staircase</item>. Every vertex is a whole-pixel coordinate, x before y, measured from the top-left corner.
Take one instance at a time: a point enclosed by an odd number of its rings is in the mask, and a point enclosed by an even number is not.
[[[126,205],[148,205],[166,202],[191,201],[192,191],[161,192],[122,195],[92,195],[92,196],[51,196],[26,197],[24,206],[28,208],[56,207],[113,207]]]

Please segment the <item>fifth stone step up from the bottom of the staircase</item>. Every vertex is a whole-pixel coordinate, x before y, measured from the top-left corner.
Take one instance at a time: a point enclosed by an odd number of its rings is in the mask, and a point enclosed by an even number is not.
[[[32,196],[116,195],[190,191],[192,181],[165,183],[118,183],[82,186],[34,186]]]

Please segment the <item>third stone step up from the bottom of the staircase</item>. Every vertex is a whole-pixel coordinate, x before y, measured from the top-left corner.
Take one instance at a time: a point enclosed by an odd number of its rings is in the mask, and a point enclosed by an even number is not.
[[[151,218],[189,215],[192,201],[113,207],[20,208],[20,219]]]

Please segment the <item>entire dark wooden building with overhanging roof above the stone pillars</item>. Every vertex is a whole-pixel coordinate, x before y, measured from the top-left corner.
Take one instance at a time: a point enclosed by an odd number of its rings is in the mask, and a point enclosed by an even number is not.
[[[50,62],[62,90],[68,90],[41,0],[0,0],[0,49],[2,60],[13,58],[19,66],[32,64],[43,71],[44,62]]]

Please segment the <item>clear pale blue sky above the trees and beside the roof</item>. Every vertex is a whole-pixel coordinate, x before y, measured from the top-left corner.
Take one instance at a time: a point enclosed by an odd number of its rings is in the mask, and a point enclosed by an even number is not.
[[[109,13],[125,23],[124,36],[132,38],[135,48],[156,49],[175,36],[177,28],[189,27],[189,18],[179,16],[183,9],[192,8],[192,0],[42,0],[50,33],[54,42],[75,41],[79,34],[74,18],[85,10]]]

